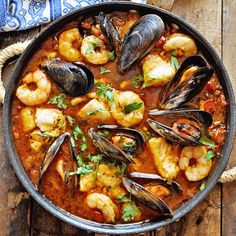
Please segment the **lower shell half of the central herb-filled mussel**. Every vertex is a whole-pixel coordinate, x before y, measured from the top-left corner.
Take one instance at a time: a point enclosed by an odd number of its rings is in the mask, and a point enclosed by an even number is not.
[[[99,135],[94,128],[89,129],[89,136],[91,137],[94,146],[108,158],[124,163],[132,163],[132,157],[126,154],[119,147],[112,144],[109,140]]]

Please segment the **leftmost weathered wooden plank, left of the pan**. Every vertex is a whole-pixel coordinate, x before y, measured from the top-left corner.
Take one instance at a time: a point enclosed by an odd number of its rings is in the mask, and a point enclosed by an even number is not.
[[[37,29],[28,30],[24,33],[3,33],[0,36],[0,49],[34,37],[36,33]],[[5,66],[4,84],[6,84],[13,66],[13,64]],[[0,108],[0,122],[2,124],[2,107]],[[0,126],[0,133],[3,133],[2,125]],[[31,200],[10,165],[2,135],[0,137],[0,153],[0,234],[28,235]]]

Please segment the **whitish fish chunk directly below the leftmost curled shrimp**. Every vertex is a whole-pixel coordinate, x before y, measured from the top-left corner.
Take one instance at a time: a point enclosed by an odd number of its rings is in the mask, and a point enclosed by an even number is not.
[[[51,137],[58,137],[66,127],[65,117],[58,109],[37,108],[35,123],[42,132]]]

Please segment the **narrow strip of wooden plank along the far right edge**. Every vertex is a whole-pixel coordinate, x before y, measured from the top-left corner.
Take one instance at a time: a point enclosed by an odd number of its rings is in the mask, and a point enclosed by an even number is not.
[[[236,53],[236,0],[223,1],[223,62],[231,78],[236,95],[236,68],[232,66]],[[236,165],[236,141],[228,168]],[[222,235],[236,235],[236,188],[234,183],[223,184]]]

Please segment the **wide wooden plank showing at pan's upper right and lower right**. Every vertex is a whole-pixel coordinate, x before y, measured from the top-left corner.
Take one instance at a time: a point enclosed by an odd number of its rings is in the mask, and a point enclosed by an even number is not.
[[[221,55],[221,1],[175,0],[172,12],[192,24]],[[209,31],[210,29],[210,31]],[[217,185],[209,196],[180,221],[162,228],[155,235],[220,235],[221,186]],[[154,235],[149,233],[146,235]]]

